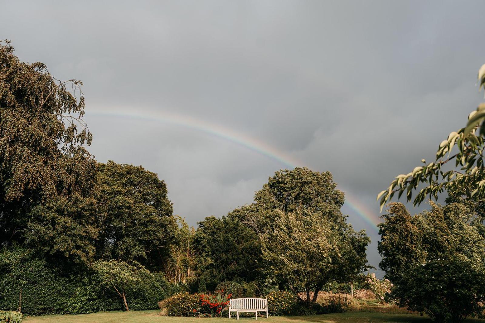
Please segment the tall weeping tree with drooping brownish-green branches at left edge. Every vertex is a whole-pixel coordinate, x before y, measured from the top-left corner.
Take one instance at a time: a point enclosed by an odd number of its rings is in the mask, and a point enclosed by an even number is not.
[[[81,85],[52,77],[43,63],[20,62],[9,42],[0,44],[0,244],[93,255],[93,213],[84,211],[96,161],[84,148],[92,136],[81,119]]]

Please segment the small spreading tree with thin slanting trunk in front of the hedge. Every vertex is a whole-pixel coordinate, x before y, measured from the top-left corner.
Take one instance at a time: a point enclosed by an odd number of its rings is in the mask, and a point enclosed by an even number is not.
[[[153,278],[153,275],[137,261],[133,261],[132,264],[117,260],[98,261],[95,269],[101,278],[101,284],[114,288],[123,299],[127,311],[129,308],[126,292],[143,280]]]

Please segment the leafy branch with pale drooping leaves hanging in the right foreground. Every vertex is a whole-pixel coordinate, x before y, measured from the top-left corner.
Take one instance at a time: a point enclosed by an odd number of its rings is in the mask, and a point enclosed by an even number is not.
[[[485,64],[478,71],[478,82],[479,90],[485,90]],[[439,144],[435,162],[426,164],[422,159],[423,166],[415,167],[408,174],[398,175],[388,189],[377,195],[381,211],[396,193],[398,199],[405,193],[407,201],[411,201],[413,191],[423,184],[426,186],[421,188],[414,198],[415,206],[427,196],[437,200],[438,194],[444,191],[467,198],[485,197],[484,121],[485,103],[481,103],[469,114],[468,123],[464,128],[453,131]]]

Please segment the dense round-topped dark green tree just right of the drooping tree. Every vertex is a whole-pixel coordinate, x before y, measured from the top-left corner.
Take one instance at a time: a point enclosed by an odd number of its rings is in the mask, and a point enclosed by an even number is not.
[[[97,257],[160,269],[177,230],[165,182],[141,166],[99,164]]]

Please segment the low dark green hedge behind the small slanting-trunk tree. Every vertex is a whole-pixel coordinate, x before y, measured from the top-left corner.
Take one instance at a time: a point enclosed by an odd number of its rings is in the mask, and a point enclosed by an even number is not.
[[[153,279],[127,291],[130,309],[156,309],[158,301],[181,290],[162,273],[153,274]],[[26,250],[13,248],[0,253],[0,308],[21,308],[28,315],[123,310],[119,295],[101,287],[97,279],[88,268],[62,271]]]

